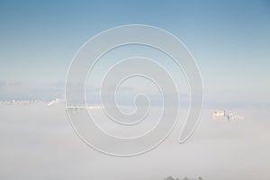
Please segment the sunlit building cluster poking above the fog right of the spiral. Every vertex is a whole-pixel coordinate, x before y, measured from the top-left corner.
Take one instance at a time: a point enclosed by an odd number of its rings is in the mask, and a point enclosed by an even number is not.
[[[225,110],[216,110],[212,113],[213,121],[243,121],[244,116],[235,112],[226,113]]]

